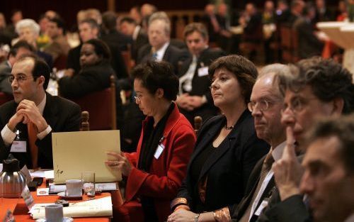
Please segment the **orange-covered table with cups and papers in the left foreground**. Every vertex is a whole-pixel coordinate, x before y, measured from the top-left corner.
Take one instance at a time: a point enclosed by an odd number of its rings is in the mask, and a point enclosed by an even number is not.
[[[45,187],[45,181],[43,181],[42,186]],[[33,199],[35,199],[35,203],[54,203],[59,199],[57,195],[49,195],[49,196],[37,196],[36,192],[31,192]],[[102,194],[96,195],[96,198],[102,198],[105,196],[112,196],[112,204],[122,204],[122,199],[120,197],[119,191],[114,192],[103,192]],[[69,202],[78,202],[78,201],[69,201]],[[7,209],[10,209],[15,216],[16,221],[26,222],[26,221],[35,221],[32,219],[30,214],[28,213],[28,208],[25,205],[25,201],[23,199],[0,199],[0,219],[4,218],[4,215]],[[95,218],[74,218],[74,221],[92,221],[92,222],[109,222],[110,218],[108,217],[95,217]]]

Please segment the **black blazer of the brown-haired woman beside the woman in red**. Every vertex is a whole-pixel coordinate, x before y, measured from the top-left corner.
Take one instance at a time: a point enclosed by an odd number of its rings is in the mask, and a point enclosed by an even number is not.
[[[190,166],[193,165],[195,157],[212,143],[225,124],[225,116],[212,117],[203,124],[198,134],[195,150],[188,164],[187,176],[177,195],[187,199],[192,211],[195,211],[193,191],[198,184],[193,183]],[[215,211],[229,206],[232,214],[234,204],[238,204],[244,196],[246,183],[254,165],[268,150],[269,145],[256,136],[251,113],[245,110],[232,132],[202,167],[198,183],[207,175],[204,211]]]

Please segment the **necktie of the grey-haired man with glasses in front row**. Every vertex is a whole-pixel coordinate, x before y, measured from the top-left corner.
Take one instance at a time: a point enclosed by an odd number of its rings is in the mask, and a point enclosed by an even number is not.
[[[240,219],[240,222],[248,222],[249,221],[249,216],[251,213],[253,202],[256,199],[259,189],[261,189],[261,186],[262,186],[262,183],[263,183],[265,177],[267,176],[268,172],[272,168],[273,162],[274,162],[274,159],[272,156],[272,152],[268,152],[268,155],[265,157],[263,165],[262,165],[261,174],[259,176],[259,181],[258,181],[256,190],[253,193],[252,199],[249,202],[249,206],[247,206],[247,209],[246,209],[244,215]]]

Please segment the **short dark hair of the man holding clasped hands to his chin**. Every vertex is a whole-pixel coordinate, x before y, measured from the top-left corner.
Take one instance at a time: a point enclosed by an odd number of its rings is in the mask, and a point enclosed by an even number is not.
[[[35,63],[32,70],[33,80],[35,81],[40,76],[45,77],[43,88],[47,89],[50,79],[50,67],[47,65],[47,62],[45,62],[45,60],[34,54],[23,55],[17,60],[17,62],[27,60],[28,58],[33,60],[33,62]]]

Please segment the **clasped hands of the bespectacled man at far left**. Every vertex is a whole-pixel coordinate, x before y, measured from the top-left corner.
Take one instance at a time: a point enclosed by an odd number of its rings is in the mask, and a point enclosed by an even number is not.
[[[27,124],[32,122],[38,133],[45,131],[48,127],[47,121],[43,118],[35,102],[23,99],[17,106],[16,113],[8,121],[8,128],[13,131],[18,123]]]

